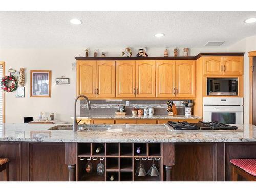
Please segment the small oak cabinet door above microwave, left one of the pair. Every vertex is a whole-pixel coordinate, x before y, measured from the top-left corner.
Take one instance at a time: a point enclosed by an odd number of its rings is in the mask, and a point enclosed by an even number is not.
[[[204,75],[222,75],[223,59],[222,57],[204,57]]]

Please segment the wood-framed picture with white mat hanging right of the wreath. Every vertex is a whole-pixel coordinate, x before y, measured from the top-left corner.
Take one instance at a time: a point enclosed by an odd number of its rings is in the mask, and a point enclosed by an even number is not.
[[[30,71],[30,97],[51,97],[51,71]]]

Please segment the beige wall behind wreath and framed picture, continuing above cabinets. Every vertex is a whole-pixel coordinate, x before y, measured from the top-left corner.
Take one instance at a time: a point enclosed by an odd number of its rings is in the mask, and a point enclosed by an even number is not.
[[[243,43],[242,43],[243,44]],[[240,46],[238,46],[240,47]],[[49,115],[55,114],[55,119],[71,121],[73,115],[73,102],[76,96],[76,71],[72,71],[71,64],[75,63],[74,56],[84,55],[84,48],[44,48],[44,49],[0,49],[0,61],[6,62],[6,72],[8,68],[25,70],[25,98],[15,98],[15,93],[6,93],[6,122],[23,122],[23,117],[34,116],[37,119],[42,111]],[[90,49],[90,56],[93,55],[94,48]],[[149,56],[162,56],[164,48],[149,48]],[[173,55],[173,48],[169,49],[169,55]],[[226,52],[227,48],[191,48],[190,55],[197,55],[200,52]],[[256,50],[256,49],[255,49]],[[107,56],[120,56],[123,47],[106,49]],[[231,50],[230,50],[231,51]],[[236,49],[234,49],[236,51]],[[245,50],[239,50],[245,51]],[[133,56],[137,54],[137,48],[133,50]],[[182,56],[182,49],[179,52]],[[245,65],[246,66],[246,65]],[[51,98],[31,98],[30,97],[30,70],[52,70],[52,97]],[[65,76],[70,78],[69,85],[55,85],[55,78]],[[79,110],[78,110],[79,111]]]

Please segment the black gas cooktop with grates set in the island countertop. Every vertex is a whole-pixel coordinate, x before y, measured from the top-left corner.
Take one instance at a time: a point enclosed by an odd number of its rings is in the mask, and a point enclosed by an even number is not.
[[[182,122],[172,122],[168,121],[167,124],[165,124],[171,131],[214,131],[214,130],[237,130],[238,127],[231,126],[224,123],[219,122],[204,122],[199,121],[198,123],[188,123],[186,121]]]

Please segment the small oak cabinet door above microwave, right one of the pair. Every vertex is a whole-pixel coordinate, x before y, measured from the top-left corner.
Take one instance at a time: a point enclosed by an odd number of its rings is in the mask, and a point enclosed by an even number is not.
[[[243,57],[223,57],[224,75],[243,75]]]

